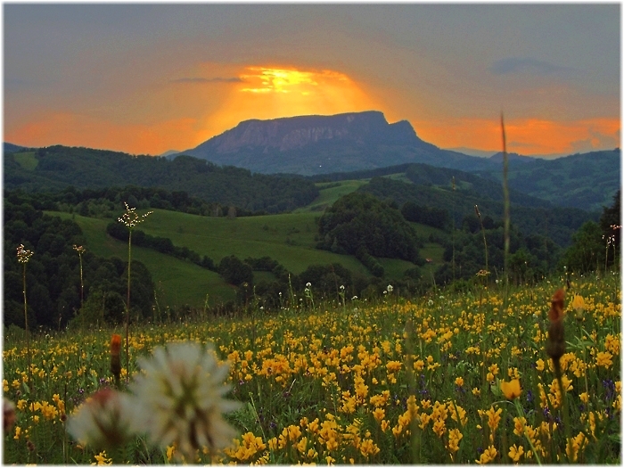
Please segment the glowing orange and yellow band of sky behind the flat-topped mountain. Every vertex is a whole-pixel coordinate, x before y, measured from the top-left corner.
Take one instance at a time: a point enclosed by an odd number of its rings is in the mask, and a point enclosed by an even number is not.
[[[10,128],[4,140],[32,146],[65,144],[133,154],[160,154],[170,149],[192,148],[245,119],[381,110],[389,120],[392,117],[410,120],[417,135],[442,148],[500,149],[498,116],[492,119],[410,119],[410,114],[417,112],[401,110],[400,105],[396,106],[399,109],[390,108],[381,96],[375,96],[363,83],[339,71],[249,66],[239,70],[237,78],[239,80],[226,83],[189,80],[160,89],[159,93],[167,99],[184,102],[193,100],[193,96],[201,98],[206,87],[221,86],[218,106],[196,118],[162,119],[148,125],[116,123],[71,112],[49,112],[21,127]],[[226,86],[222,86],[224,84]],[[404,117],[400,118],[401,115]],[[586,147],[603,148],[605,144],[615,147],[620,138],[619,119],[505,119],[505,129],[508,150],[527,155],[571,154],[578,151],[575,142],[585,142]]]

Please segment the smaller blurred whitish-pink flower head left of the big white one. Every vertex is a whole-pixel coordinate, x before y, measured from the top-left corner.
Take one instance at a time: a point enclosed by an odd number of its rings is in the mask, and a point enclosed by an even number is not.
[[[82,445],[113,448],[132,435],[133,403],[119,391],[103,389],[78,406],[67,421],[67,431]]]

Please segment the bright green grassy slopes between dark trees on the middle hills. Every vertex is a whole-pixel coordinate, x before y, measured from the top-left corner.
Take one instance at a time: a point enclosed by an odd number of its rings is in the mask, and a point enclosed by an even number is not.
[[[167,237],[178,247],[187,247],[201,256],[208,256],[218,263],[224,257],[235,255],[239,259],[268,256],[277,260],[287,270],[300,274],[311,265],[340,263],[354,273],[370,275],[368,270],[353,256],[339,255],[327,250],[317,250],[316,221],[322,215],[315,206],[333,203],[344,193],[357,189],[361,181],[347,181],[340,186],[321,191],[321,196],[307,209],[294,213],[245,218],[211,218],[154,209],[152,216],[138,227],[146,234]],[[86,235],[86,248],[103,257],[127,258],[127,243],[106,234],[111,219],[85,218],[76,214],[46,212],[53,216],[72,218]],[[412,223],[423,237],[440,234],[430,226]],[[443,248],[428,242],[422,250],[423,258],[441,262]],[[133,258],[144,262],[152,274],[157,289],[162,291],[161,305],[176,307],[188,304],[202,307],[206,294],[209,304],[233,300],[234,288],[214,272],[197,267],[190,262],[174,259],[159,252],[133,247]],[[380,259],[386,271],[385,280],[391,282],[403,276],[410,262],[399,259]],[[254,272],[256,281],[272,279],[272,275]]]

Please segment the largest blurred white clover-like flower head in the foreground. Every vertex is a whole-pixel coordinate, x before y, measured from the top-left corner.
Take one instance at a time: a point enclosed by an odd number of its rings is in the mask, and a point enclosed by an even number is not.
[[[236,431],[222,413],[240,403],[222,398],[229,366],[218,364],[212,349],[195,342],[169,343],[154,349],[151,358],[138,361],[144,373],[131,385],[137,406],[137,429],[153,445],[176,445],[176,455],[195,459],[203,446],[211,451],[227,447]]]

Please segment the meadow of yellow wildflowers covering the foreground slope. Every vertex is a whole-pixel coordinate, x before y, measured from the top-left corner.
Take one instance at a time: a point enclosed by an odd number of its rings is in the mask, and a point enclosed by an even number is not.
[[[302,308],[134,325],[129,373],[121,330],[33,335],[30,356],[5,332],[4,463],[620,464],[619,274],[308,289]]]

